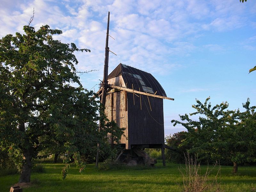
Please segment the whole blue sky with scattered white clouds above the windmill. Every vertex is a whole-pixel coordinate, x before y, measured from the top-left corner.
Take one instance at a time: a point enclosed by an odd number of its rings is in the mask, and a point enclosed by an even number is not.
[[[195,99],[256,105],[256,1],[248,0],[2,0],[0,37],[32,26],[61,29],[56,39],[91,53],[76,54],[87,89],[103,76],[107,15],[110,11],[109,72],[120,62],[150,72],[162,84],[165,135],[185,130],[172,119],[191,113]],[[96,86],[95,86],[96,85]],[[95,86],[94,88],[92,88]]]

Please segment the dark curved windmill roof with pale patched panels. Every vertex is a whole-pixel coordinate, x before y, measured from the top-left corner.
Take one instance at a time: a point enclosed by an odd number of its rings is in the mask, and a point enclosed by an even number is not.
[[[108,79],[122,76],[126,88],[148,92],[166,97],[163,87],[156,78],[148,72],[120,63],[109,75]]]

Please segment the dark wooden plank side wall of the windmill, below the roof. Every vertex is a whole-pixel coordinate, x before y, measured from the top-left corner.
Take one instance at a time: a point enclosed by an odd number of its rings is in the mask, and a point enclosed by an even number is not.
[[[140,94],[138,96],[141,98],[127,93],[129,145],[164,144],[163,99]]]

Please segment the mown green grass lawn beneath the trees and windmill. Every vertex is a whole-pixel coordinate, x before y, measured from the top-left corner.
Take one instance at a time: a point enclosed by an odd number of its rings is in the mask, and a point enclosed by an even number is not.
[[[179,172],[179,164],[161,163],[153,168],[121,169],[99,171],[94,164],[88,164],[84,174],[80,174],[75,165],[71,165],[66,180],[60,180],[63,164],[44,163],[44,173],[32,173],[31,185],[23,188],[24,192],[42,191],[182,191],[183,180]],[[183,165],[184,166],[184,165]],[[206,166],[201,165],[204,172]],[[215,170],[217,172],[217,169]],[[214,179],[213,172],[210,175]],[[17,183],[19,175],[0,177],[0,191],[10,191],[10,187]],[[238,167],[238,174],[232,174],[231,166],[221,166],[221,189],[223,191],[256,192],[256,167]]]

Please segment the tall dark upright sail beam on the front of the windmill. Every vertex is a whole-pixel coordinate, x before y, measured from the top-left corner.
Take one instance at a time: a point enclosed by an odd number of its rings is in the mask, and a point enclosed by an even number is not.
[[[108,33],[109,33],[109,14],[108,12],[108,25],[107,25],[107,36],[106,36],[106,47],[105,47],[105,62],[104,62],[104,72],[103,72],[103,81],[102,81],[102,93],[100,103],[105,107],[106,97],[107,97],[107,89],[108,89],[108,55],[109,55],[109,47],[108,47]],[[102,126],[102,123],[99,124],[99,132]],[[98,143],[97,156],[96,156],[96,166],[98,166],[99,162],[99,153],[100,153],[100,143]]]

